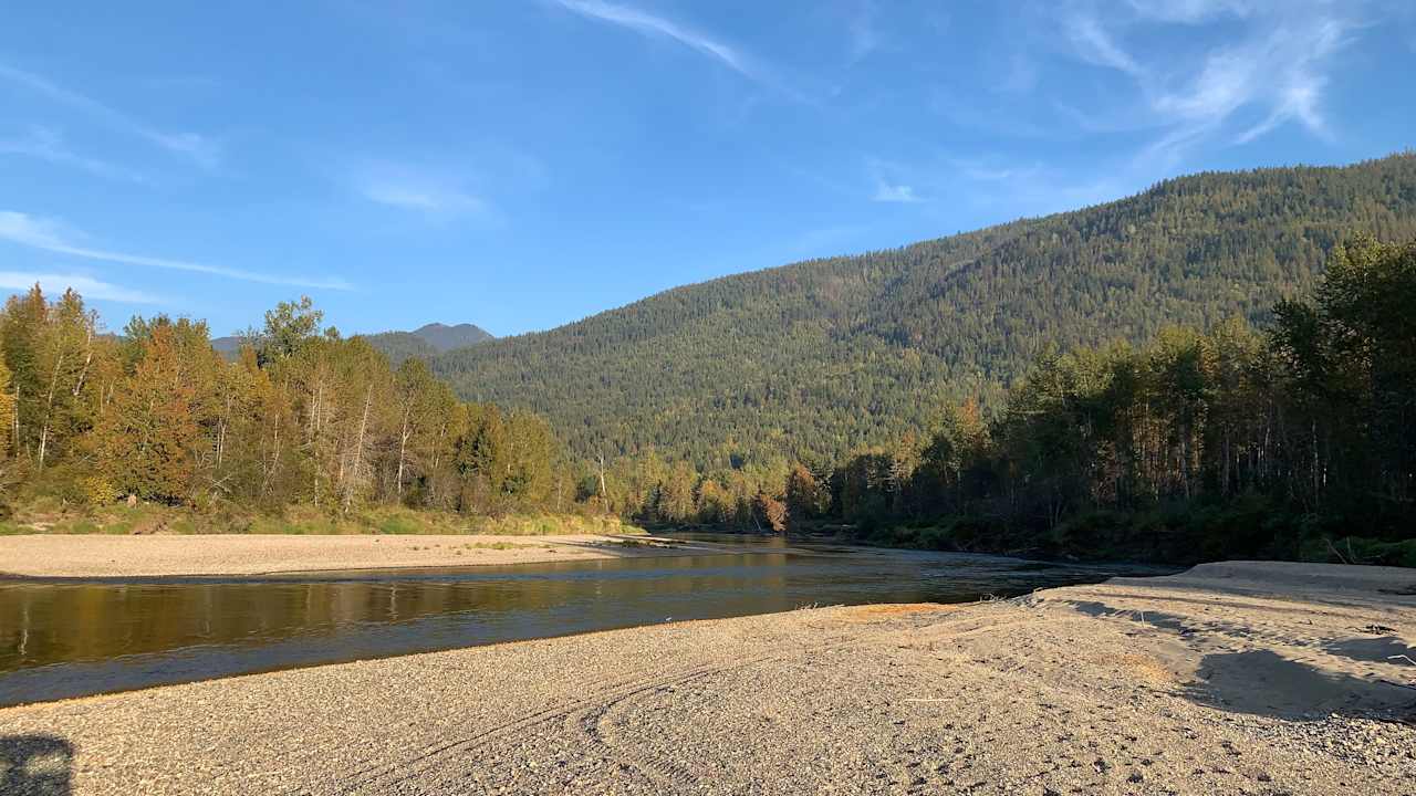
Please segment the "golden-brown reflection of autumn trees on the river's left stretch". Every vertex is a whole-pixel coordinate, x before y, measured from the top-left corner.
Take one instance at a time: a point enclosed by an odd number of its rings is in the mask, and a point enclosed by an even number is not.
[[[752,602],[731,606],[733,613],[783,610],[796,608],[787,596],[784,559],[777,554],[610,559],[367,581],[11,585],[0,588],[0,671],[197,644],[269,643],[459,613],[489,622],[524,613],[518,632],[547,636],[555,629],[535,627],[537,616],[564,622],[573,610],[576,630],[623,626],[653,615],[657,605],[681,608],[675,598],[695,593]],[[705,608],[724,613],[729,606]]]

